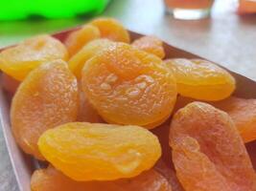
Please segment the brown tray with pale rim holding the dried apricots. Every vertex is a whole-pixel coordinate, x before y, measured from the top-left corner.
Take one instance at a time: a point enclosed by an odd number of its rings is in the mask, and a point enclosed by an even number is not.
[[[66,36],[77,29],[72,29],[65,32],[58,32],[54,34],[59,40],[63,41]],[[143,34],[136,32],[129,32],[132,40],[136,39]],[[167,43],[164,43],[166,57],[185,57],[185,58],[201,58],[196,54],[187,53],[180,49],[177,49]],[[1,50],[0,50],[1,51]],[[223,67],[222,67],[223,68]],[[227,70],[227,69],[226,69]],[[229,71],[229,70],[227,70]],[[237,90],[234,93],[234,96],[244,97],[244,98],[256,98],[256,82],[252,81],[241,74],[235,74],[229,71],[236,78],[237,81]],[[20,191],[30,191],[30,178],[33,171],[36,168],[40,168],[43,164],[40,164],[37,160],[30,157],[29,155],[24,154],[12,136],[11,124],[10,124],[10,102],[8,96],[4,93],[2,86],[0,86],[0,123],[3,128],[4,137],[8,147],[9,155],[12,161],[13,171],[18,182],[18,187]],[[168,137],[166,133],[161,132],[161,137]],[[256,141],[251,142],[246,145],[248,153],[250,156],[256,155]],[[255,152],[254,152],[255,151]],[[254,154],[255,153],[255,154]],[[166,156],[165,156],[166,157]],[[169,158],[168,158],[169,159]],[[164,160],[168,160],[164,159]],[[256,158],[254,158],[256,159]],[[256,161],[252,161],[254,168],[256,167]]]

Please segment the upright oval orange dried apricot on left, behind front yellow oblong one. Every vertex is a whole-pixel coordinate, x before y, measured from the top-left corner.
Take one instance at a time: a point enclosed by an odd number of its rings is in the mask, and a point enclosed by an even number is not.
[[[78,113],[76,77],[62,60],[40,65],[20,84],[12,99],[12,133],[25,153],[43,159],[37,148],[41,134],[74,121]]]

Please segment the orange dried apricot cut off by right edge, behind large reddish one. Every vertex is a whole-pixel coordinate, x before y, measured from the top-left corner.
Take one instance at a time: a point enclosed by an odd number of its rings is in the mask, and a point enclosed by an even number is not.
[[[256,99],[231,96],[212,104],[233,119],[244,142],[256,139]]]

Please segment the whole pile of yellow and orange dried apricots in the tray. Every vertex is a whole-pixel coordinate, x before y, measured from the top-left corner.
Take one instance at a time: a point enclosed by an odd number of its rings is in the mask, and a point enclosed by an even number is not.
[[[214,63],[166,57],[112,18],[1,52],[13,136],[49,162],[31,189],[255,191],[256,99],[231,96],[235,78]]]

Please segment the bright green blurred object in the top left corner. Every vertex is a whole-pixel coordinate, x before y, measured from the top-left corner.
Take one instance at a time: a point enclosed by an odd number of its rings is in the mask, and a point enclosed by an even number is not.
[[[109,0],[3,0],[0,1],[0,20],[97,14],[105,10],[108,2]]]

